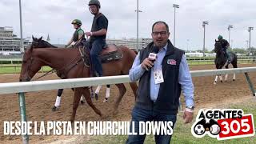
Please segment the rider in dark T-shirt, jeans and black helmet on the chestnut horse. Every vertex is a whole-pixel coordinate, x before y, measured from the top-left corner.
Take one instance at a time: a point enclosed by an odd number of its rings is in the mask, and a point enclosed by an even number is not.
[[[101,53],[102,48],[106,45],[108,20],[104,14],[99,12],[101,4],[98,0],[90,0],[88,5],[90,13],[94,14],[94,21],[92,23],[91,30],[90,32],[86,32],[86,36],[90,36],[90,60],[93,73],[95,72],[96,76],[101,77],[103,75],[102,62],[98,55]]]

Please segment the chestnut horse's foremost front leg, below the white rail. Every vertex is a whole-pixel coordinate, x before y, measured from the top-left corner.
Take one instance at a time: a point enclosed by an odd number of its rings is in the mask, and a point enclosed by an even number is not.
[[[74,98],[73,98],[73,111],[72,111],[72,115],[70,118],[70,121],[72,123],[74,122],[75,114],[77,113],[77,110],[78,110],[79,100],[81,98],[81,95],[82,95],[81,88],[75,88],[74,89]]]

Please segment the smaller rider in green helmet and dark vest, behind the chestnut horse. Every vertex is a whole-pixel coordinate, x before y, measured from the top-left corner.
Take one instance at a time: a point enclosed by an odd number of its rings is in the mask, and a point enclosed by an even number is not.
[[[70,42],[66,44],[65,47],[78,47],[83,46],[86,42],[85,33],[82,30],[82,22],[79,19],[74,19],[71,24],[74,25],[74,34],[73,37],[70,39]]]

